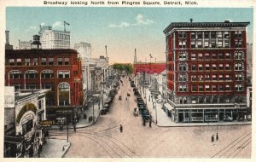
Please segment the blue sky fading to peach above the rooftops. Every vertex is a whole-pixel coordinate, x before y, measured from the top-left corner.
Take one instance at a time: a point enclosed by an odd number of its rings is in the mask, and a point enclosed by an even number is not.
[[[39,25],[53,26],[63,30],[67,21],[67,31],[71,32],[73,43],[86,42],[92,47],[92,55],[105,54],[111,62],[132,62],[134,49],[137,60],[149,61],[148,54],[157,61],[165,61],[165,34],[163,30],[172,22],[250,21],[248,41],[253,40],[253,9],[224,8],[27,8],[9,7],[6,10],[6,30],[10,43],[18,46],[18,40],[32,40],[38,34]]]

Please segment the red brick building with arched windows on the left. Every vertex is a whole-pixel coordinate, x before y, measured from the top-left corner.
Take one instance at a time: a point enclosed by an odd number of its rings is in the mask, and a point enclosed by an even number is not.
[[[5,85],[15,90],[51,90],[47,113],[82,102],[82,70],[74,49],[5,50]]]

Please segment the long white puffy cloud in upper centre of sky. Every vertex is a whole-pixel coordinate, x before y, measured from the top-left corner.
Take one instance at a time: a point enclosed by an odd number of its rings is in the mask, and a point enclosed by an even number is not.
[[[143,26],[154,23],[153,20],[145,19],[143,14],[137,14],[136,23],[121,22],[120,24],[110,24],[109,27],[129,27],[129,26]]]

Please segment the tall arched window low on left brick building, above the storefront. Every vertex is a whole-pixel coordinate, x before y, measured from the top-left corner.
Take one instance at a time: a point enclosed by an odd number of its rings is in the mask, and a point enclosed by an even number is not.
[[[67,83],[61,83],[58,86],[59,105],[70,105],[70,86]]]

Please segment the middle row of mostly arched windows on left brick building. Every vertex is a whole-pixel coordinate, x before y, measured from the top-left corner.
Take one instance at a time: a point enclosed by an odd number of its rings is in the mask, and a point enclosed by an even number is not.
[[[76,75],[77,71],[73,71],[73,74]],[[70,78],[70,71],[58,71],[57,72],[58,78]],[[54,72],[53,71],[43,71],[41,72],[41,78],[54,78]],[[22,72],[14,71],[9,73],[9,78],[12,79],[20,79],[23,78]],[[28,71],[25,73],[25,78],[32,79],[32,78],[38,78],[38,72],[37,71]]]

